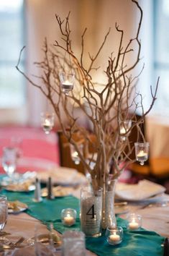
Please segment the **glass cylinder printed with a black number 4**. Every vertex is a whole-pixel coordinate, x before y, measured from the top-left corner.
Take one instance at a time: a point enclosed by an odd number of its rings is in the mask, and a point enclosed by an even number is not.
[[[81,231],[86,236],[101,236],[102,190],[81,189]]]

